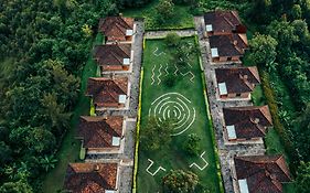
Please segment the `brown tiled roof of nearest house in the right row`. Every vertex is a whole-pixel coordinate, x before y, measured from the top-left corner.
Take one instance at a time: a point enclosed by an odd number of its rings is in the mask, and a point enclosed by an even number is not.
[[[291,180],[284,156],[235,157],[237,179],[246,179],[248,192],[282,192],[282,182]]]

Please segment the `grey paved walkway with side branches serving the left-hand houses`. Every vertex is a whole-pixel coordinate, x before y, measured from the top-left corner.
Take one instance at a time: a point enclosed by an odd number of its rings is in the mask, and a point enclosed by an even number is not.
[[[124,151],[121,153],[106,153],[87,156],[86,162],[118,162],[119,163],[119,179],[118,190],[119,193],[131,193],[132,189],[132,175],[133,175],[133,157],[135,157],[135,141],[136,141],[136,124],[137,112],[139,103],[139,83],[140,83],[140,68],[141,68],[141,56],[142,56],[142,41],[145,25],[142,21],[135,21],[137,32],[132,42],[133,50],[133,64],[132,72],[126,75],[129,76],[130,86],[130,99],[129,109],[117,109],[117,110],[96,110],[98,116],[124,116],[126,117],[126,129],[125,129],[125,142]],[[104,74],[103,76],[110,76]]]

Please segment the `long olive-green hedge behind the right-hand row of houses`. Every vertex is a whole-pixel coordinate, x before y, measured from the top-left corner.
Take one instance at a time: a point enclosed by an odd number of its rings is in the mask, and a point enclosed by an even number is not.
[[[269,82],[269,75],[266,71],[259,71],[263,90],[267,100],[267,105],[269,106],[270,114],[272,116],[272,122],[274,128],[277,131],[277,133],[280,136],[280,141],[284,144],[285,151],[289,158],[289,167],[292,173],[296,173],[296,165],[299,162],[298,160],[298,153],[293,147],[292,141],[290,140],[286,128],[281,124],[281,120],[279,118],[279,109],[276,100],[276,95],[270,86]]]

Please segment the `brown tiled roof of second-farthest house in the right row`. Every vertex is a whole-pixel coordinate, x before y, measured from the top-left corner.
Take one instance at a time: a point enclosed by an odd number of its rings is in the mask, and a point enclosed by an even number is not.
[[[242,56],[247,49],[246,34],[213,35],[209,40],[210,47],[216,47],[218,56]]]

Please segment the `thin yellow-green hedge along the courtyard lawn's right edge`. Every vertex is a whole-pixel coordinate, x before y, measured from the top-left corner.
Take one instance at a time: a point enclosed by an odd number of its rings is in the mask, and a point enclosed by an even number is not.
[[[224,193],[224,185],[223,185],[223,176],[222,176],[222,172],[221,172],[221,164],[220,164],[220,158],[218,158],[218,149],[217,149],[217,144],[216,144],[216,140],[215,140],[215,132],[214,132],[214,126],[213,126],[213,119],[210,112],[210,106],[209,106],[209,99],[207,99],[207,89],[206,89],[206,83],[205,83],[205,76],[204,76],[204,72],[201,73],[201,77],[202,77],[202,85],[203,85],[203,95],[204,95],[204,103],[205,103],[205,110],[207,114],[207,118],[209,118],[209,128],[210,128],[210,132],[211,132],[211,138],[212,138],[212,146],[214,148],[214,157],[215,157],[215,162],[216,162],[216,170],[217,170],[217,179],[218,179],[218,185],[220,185],[220,192]]]

